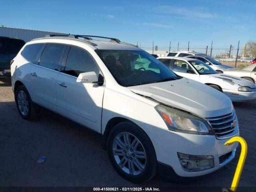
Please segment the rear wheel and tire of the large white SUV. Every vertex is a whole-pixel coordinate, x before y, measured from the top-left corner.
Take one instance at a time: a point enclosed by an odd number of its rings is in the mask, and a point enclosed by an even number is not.
[[[36,118],[36,108],[30,98],[28,90],[24,85],[17,88],[15,92],[15,102],[18,112],[25,120],[32,120]]]

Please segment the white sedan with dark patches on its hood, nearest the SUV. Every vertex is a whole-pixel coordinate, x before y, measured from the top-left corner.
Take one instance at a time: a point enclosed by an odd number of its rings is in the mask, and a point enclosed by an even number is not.
[[[256,85],[242,78],[219,74],[200,60],[184,57],[159,57],[177,75],[196,80],[226,94],[232,101],[256,98]]]

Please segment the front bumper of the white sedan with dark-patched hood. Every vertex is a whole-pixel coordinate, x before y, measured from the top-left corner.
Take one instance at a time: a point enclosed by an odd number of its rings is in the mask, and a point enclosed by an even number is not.
[[[228,96],[234,102],[242,102],[256,99],[256,90],[252,92],[243,92],[224,89],[223,93],[226,94],[226,96]]]

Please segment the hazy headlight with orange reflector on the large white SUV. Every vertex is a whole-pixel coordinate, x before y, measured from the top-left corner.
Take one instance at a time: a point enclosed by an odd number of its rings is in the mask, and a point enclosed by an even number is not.
[[[169,130],[190,134],[213,134],[206,120],[202,118],[161,104],[155,108]]]

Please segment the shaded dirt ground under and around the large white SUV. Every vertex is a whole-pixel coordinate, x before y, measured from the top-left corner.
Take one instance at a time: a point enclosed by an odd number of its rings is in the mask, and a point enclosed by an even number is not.
[[[239,186],[256,189],[256,101],[234,103],[248,155]],[[193,182],[174,184],[154,178],[142,185],[121,178],[112,168],[98,135],[65,118],[44,112],[23,120],[16,109],[10,79],[0,79],[0,186],[230,186],[236,158]],[[46,156],[46,161],[37,160]],[[170,157],[171,158],[171,157]],[[172,190],[173,191],[173,190]],[[200,190],[199,190],[200,191]],[[219,191],[219,190],[218,190]],[[238,190],[241,191],[241,190]],[[250,190],[251,191],[251,190]]]

